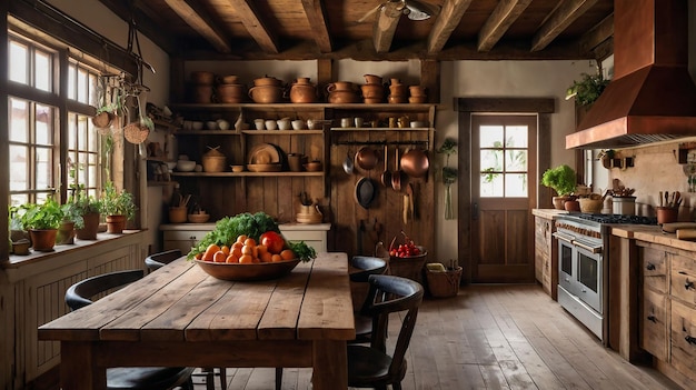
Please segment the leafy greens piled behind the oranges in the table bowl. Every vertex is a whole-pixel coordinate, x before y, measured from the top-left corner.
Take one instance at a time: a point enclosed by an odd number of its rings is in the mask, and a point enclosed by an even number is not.
[[[192,259],[198,253],[203,253],[211,243],[229,246],[241,234],[247,234],[247,237],[259,242],[261,234],[267,231],[280,233],[278,223],[265,212],[255,214],[243,212],[235,217],[225,217],[216,222],[215,230],[207,233],[196,247],[191,248],[188,259]]]

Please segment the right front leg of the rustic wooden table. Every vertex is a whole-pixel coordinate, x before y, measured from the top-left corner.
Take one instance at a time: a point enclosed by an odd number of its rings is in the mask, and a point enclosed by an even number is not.
[[[312,356],[314,390],[348,388],[348,354],[345,340],[315,340]]]

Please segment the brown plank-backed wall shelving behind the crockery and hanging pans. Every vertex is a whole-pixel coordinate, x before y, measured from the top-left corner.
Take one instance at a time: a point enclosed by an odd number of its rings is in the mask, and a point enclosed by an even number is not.
[[[186,120],[209,121],[225,119],[235,123],[242,121],[252,126],[255,119],[318,119],[327,123],[322,130],[178,130],[177,154],[187,154],[200,161],[208,147],[219,147],[230,164],[248,163],[249,152],[260,143],[271,143],[282,153],[301,153],[309,160],[322,162],[320,172],[175,172],[173,180],[181,183],[183,193],[191,193],[192,201],[211,214],[211,220],[246,211],[265,211],[281,223],[296,221],[300,208],[299,194],[317,201],[325,216],[324,222],[337,228],[330,231],[327,249],[345,251],[349,256],[372,254],[378,241],[388,242],[406,231],[416,243],[434,248],[435,223],[435,169],[422,178],[410,178],[410,186],[402,192],[382,187],[380,176],[388,163],[396,170],[399,156],[408,149],[419,148],[429,152],[430,168],[434,160],[435,104],[175,104],[172,109]],[[340,127],[341,119],[362,119],[361,127]],[[359,122],[359,121],[358,121]],[[416,122],[411,127],[411,122]],[[420,122],[420,123],[418,123]],[[361,148],[378,152],[379,162],[371,170],[356,169],[347,176],[342,162]],[[384,149],[387,147],[387,156]],[[387,161],[385,161],[385,157]],[[368,178],[376,190],[369,209],[356,202],[356,184]],[[407,188],[411,189],[414,212],[402,218]],[[366,229],[359,233],[360,221]],[[379,229],[372,229],[379,226]],[[350,238],[350,239],[347,239]],[[362,238],[362,242],[358,242]],[[362,250],[360,250],[360,248]],[[434,258],[434,260],[436,260]]]

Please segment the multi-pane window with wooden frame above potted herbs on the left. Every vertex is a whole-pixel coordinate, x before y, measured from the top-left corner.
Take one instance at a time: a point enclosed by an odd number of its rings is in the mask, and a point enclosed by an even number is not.
[[[99,71],[12,31],[8,44],[10,206],[41,202],[61,187],[97,196],[100,136],[90,118]],[[68,69],[63,89],[56,77],[61,68]]]

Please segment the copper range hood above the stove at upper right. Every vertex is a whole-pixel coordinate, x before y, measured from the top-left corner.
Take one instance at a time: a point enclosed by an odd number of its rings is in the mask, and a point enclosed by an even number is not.
[[[627,148],[696,137],[686,0],[614,1],[614,79],[566,149]]]

